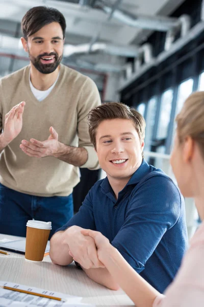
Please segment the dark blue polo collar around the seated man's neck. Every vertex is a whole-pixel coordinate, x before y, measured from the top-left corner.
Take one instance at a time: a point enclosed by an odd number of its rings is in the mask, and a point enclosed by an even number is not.
[[[127,184],[122,189],[122,191],[127,186],[132,185],[132,184],[137,184],[138,182],[140,182],[148,173],[149,173],[149,164],[143,159],[140,167],[134,172],[133,176],[131,177],[129,182],[127,182]],[[113,189],[112,189],[112,187],[111,187],[111,185],[108,181],[108,177],[106,177],[103,180],[103,182],[101,182],[100,187],[101,187],[101,189],[104,190],[105,193],[109,193],[109,192],[112,193],[112,191],[113,191]]]

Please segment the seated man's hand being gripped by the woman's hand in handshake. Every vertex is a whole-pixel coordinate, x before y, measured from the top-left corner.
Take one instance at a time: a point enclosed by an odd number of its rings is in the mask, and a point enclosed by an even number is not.
[[[104,265],[98,260],[94,239],[84,236],[81,233],[82,229],[79,226],[72,226],[64,232],[64,237],[67,235],[69,255],[84,269],[104,268]]]

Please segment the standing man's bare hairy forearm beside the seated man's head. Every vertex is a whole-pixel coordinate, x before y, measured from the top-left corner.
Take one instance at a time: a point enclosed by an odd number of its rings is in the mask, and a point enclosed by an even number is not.
[[[86,163],[88,152],[84,147],[73,147],[59,142],[59,149],[54,157],[80,167]]]

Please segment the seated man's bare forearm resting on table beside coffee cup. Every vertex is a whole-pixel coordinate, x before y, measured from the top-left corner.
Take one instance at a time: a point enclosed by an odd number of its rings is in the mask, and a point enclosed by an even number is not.
[[[56,265],[67,266],[73,258],[69,255],[69,246],[64,237],[64,231],[59,231],[50,239],[49,256]]]

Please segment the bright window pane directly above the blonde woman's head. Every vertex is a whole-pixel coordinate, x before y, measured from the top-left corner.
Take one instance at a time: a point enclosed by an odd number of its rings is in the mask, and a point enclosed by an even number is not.
[[[186,98],[192,93],[192,91],[193,91],[193,79],[188,79],[179,85],[175,115],[177,115],[181,111],[181,108]]]

